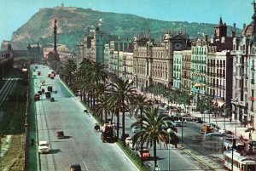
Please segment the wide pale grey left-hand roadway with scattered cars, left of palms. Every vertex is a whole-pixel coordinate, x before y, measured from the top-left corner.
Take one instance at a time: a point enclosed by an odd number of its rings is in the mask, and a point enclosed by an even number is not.
[[[100,133],[93,129],[96,121],[84,114],[84,106],[58,76],[55,79],[47,77],[50,71],[47,66],[38,66],[33,75],[37,75],[37,71],[41,71],[41,76],[33,77],[34,91],[40,87],[47,89],[49,84],[57,91],[51,93],[55,102],[46,100],[44,94],[36,102],[38,140],[47,140],[50,145],[49,154],[39,155],[41,170],[65,171],[72,163],[79,163],[85,171],[137,170],[116,144],[102,143]],[[40,85],[42,80],[45,80],[44,86]],[[57,131],[63,131],[67,138],[58,140],[55,137]]]

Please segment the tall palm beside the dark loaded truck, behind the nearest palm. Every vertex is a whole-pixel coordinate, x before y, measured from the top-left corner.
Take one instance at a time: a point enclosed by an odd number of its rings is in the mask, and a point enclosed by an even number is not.
[[[122,111],[122,128],[123,134],[125,134],[125,111],[128,111],[127,105],[131,104],[131,101],[134,99],[136,90],[132,86],[132,82],[129,83],[129,80],[124,81],[121,78],[117,78],[114,83],[110,83],[110,87],[113,88],[113,90],[111,94],[109,94],[108,103],[116,105],[119,108],[119,111]],[[116,114],[119,115],[119,112]],[[119,123],[117,128],[117,136],[119,137]],[[124,139],[123,144],[125,145]]]

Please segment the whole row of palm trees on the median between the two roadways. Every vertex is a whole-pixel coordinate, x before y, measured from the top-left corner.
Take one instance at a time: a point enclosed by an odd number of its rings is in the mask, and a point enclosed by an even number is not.
[[[158,107],[151,105],[144,95],[137,94],[132,82],[109,73],[105,65],[84,59],[77,68],[73,60],[67,60],[58,68],[58,72],[74,92],[81,90],[80,98],[87,103],[94,116],[106,123],[108,117],[111,117],[111,123],[113,117],[116,117],[117,137],[119,137],[119,115],[122,115],[122,134],[125,134],[125,112],[134,115],[137,121],[131,127],[139,126],[141,129],[134,135],[133,145],[139,142],[141,151],[143,145],[153,146],[155,166],[157,165],[156,145],[160,141],[166,143],[170,137],[172,142],[177,142],[178,138],[175,134],[177,129],[168,116],[159,114]],[[172,94],[169,96],[171,97]],[[172,134],[167,132],[167,128],[172,128]],[[125,146],[125,139],[122,141]]]

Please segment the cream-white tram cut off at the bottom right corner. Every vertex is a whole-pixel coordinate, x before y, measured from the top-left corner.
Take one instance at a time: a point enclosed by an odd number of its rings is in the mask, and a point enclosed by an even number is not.
[[[256,156],[255,155],[241,155],[237,151],[232,150],[224,151],[223,164],[225,168],[232,170],[233,159],[233,171],[255,171],[256,170]]]

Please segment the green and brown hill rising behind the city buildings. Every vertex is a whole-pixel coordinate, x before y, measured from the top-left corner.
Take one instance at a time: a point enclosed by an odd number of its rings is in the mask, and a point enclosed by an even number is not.
[[[121,39],[131,39],[138,33],[143,36],[150,30],[151,37],[160,40],[166,29],[178,31],[185,29],[189,38],[212,36],[215,25],[207,23],[188,23],[146,19],[135,14],[117,14],[92,9],[57,7],[40,9],[30,20],[13,33],[11,43],[14,49],[26,49],[28,43],[53,43],[53,23],[57,19],[57,43],[67,44],[76,49],[76,43],[83,40],[84,32],[95,30],[118,35]],[[218,22],[218,19],[216,19]],[[241,30],[236,29],[236,32]],[[230,26],[228,26],[230,35]]]

